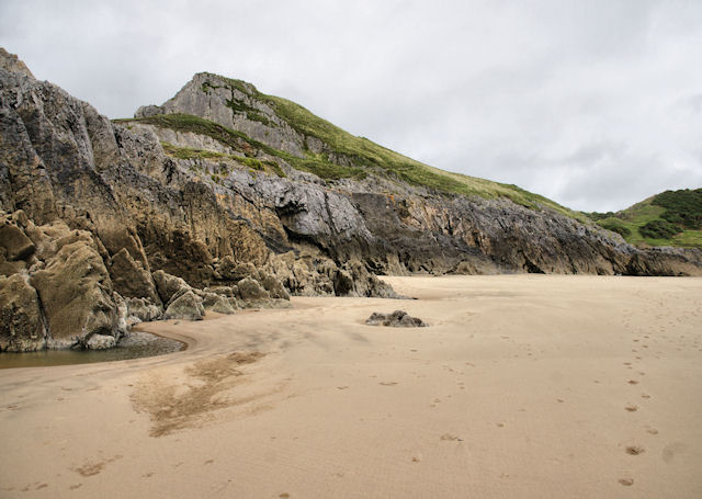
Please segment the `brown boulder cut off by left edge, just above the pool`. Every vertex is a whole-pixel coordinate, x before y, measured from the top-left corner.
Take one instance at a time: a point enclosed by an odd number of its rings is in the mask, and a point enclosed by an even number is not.
[[[0,277],[0,351],[29,352],[45,345],[36,291],[20,274]]]

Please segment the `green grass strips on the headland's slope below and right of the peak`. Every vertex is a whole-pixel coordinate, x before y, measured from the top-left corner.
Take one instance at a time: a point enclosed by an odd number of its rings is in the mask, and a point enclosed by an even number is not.
[[[321,139],[332,152],[352,158],[359,168],[335,165],[329,161],[326,154],[315,155],[312,151],[305,151],[305,158],[296,158],[287,152],[258,143],[241,132],[225,128],[196,116],[171,114],[122,120],[122,122],[138,121],[161,127],[208,135],[222,144],[233,147],[235,150],[242,150],[241,144],[246,143],[253,149],[263,150],[271,156],[285,160],[295,169],[308,171],[328,180],[340,178],[362,179],[367,173],[374,172],[375,174],[396,178],[410,184],[422,185],[439,193],[477,195],[485,199],[507,197],[529,208],[541,209],[542,207],[547,207],[581,222],[587,220],[587,217],[582,214],[573,212],[544,196],[533,194],[517,185],[446,172],[382,147],[364,137],[353,136],[326,120],[314,115],[305,107],[286,99],[260,93],[253,86],[241,80],[213,75],[214,78],[218,82],[224,82],[228,87],[236,88],[267,102],[292,128],[305,136],[314,136]],[[206,88],[203,91],[206,91]]]

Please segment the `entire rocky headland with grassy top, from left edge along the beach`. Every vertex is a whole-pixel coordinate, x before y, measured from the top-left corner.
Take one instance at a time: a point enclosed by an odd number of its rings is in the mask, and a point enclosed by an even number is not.
[[[0,49],[0,350],[106,348],[140,320],[290,295],[396,297],[376,274],[702,271],[699,251],[639,250],[465,179],[210,73],[113,123]]]

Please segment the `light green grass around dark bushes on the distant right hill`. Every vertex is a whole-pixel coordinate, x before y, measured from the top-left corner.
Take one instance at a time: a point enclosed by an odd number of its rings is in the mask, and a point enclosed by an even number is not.
[[[639,231],[641,227],[650,222],[664,219],[663,214],[666,212],[666,208],[654,204],[655,199],[656,196],[648,197],[641,203],[636,203],[626,209],[615,213],[614,216],[599,219],[598,224],[604,227],[609,224],[625,227],[629,229],[630,234],[624,238],[627,242],[636,246],[649,245],[702,248],[702,230],[686,228],[680,234],[677,234],[671,238],[650,238],[642,236]]]

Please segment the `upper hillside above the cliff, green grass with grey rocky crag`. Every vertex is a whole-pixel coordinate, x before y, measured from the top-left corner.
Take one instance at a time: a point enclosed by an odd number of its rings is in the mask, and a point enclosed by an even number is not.
[[[524,191],[517,185],[446,172],[380,146],[365,137],[353,136],[314,115],[299,104],[259,92],[251,83],[207,72],[196,75],[193,81],[197,81],[200,84],[200,89],[194,86],[194,90],[201,90],[206,95],[215,97],[218,92],[225,92],[224,105],[236,117],[231,121],[222,120],[219,113],[211,115],[205,113],[200,116],[202,113],[199,111],[202,111],[202,107],[199,106],[184,107],[195,115],[176,113],[174,111],[183,109],[183,99],[174,98],[162,107],[148,106],[139,110],[134,118],[115,120],[115,122],[127,124],[140,122],[207,135],[247,156],[250,156],[252,149],[262,151],[286,161],[297,170],[314,173],[325,180],[343,178],[359,180],[369,174],[381,175],[439,193],[477,195],[488,200],[505,197],[529,208],[551,208],[584,220],[580,213],[561,206],[539,194]],[[192,87],[186,86],[183,89],[190,102],[196,100],[193,98]],[[210,120],[203,120],[203,117],[210,117]],[[242,122],[249,123],[242,126]],[[299,137],[304,137],[301,143],[302,147],[299,150],[281,150],[278,144],[269,143],[260,134],[259,140],[248,136],[245,131],[251,129],[252,122],[258,122],[269,128],[269,134],[270,128],[280,131],[283,126],[290,127]],[[320,148],[320,145],[324,147]],[[188,150],[188,148],[172,150],[172,154],[181,159],[202,157],[201,151]]]

